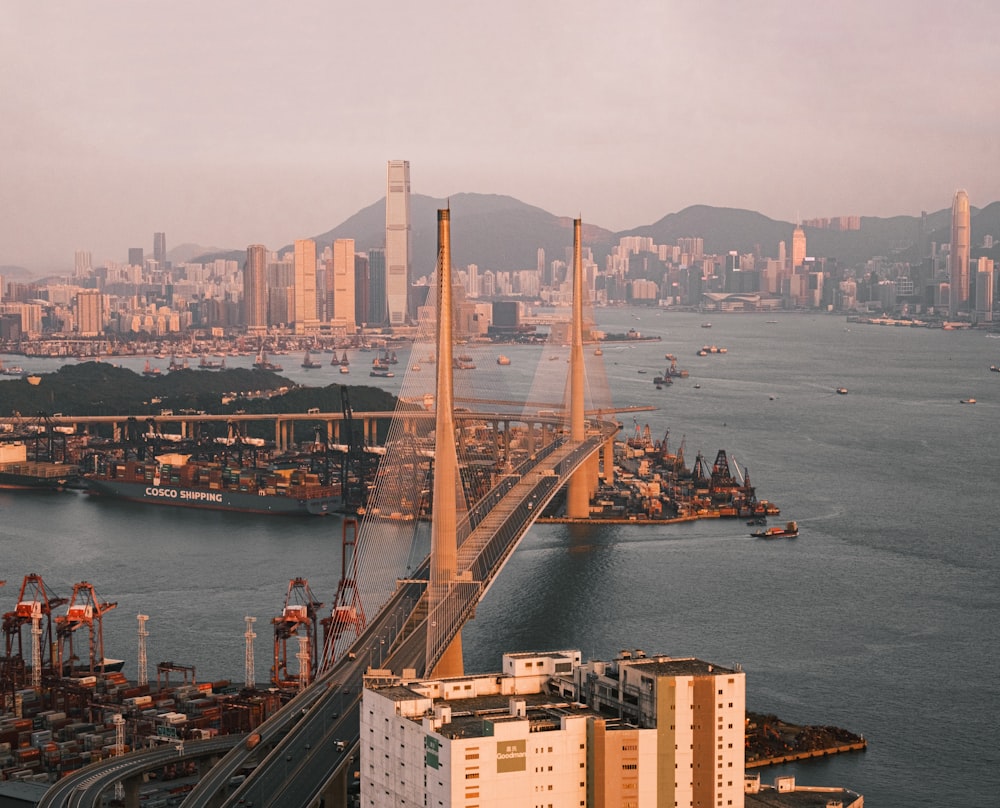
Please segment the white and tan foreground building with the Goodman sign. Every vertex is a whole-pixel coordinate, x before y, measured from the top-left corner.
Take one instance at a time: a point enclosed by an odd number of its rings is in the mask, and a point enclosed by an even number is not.
[[[362,804],[743,805],[746,676],[694,658],[504,654],[365,690]]]

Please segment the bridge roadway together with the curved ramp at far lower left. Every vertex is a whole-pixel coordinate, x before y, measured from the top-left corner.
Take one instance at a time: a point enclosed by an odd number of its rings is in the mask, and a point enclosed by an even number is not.
[[[182,808],[305,808],[318,804],[324,794],[326,805],[343,804],[347,776],[358,753],[359,707],[366,673],[433,669],[535,517],[617,429],[617,424],[602,422],[600,429],[592,430],[578,446],[561,436],[507,475],[458,525],[459,569],[469,570],[471,580],[453,586],[429,615],[425,591],[429,559],[425,559],[413,578],[399,582],[350,650],[257,729],[258,743],[246,743],[246,736],[213,739],[220,744],[218,748],[195,745],[208,742],[185,742],[185,757],[226,754],[204,774]],[[428,628],[435,622],[440,625],[434,627],[435,648],[428,659]],[[205,748],[200,755],[199,748]],[[137,751],[88,766],[49,789],[39,806],[97,808],[101,793],[119,780],[126,782],[127,808],[137,806],[137,790],[130,789],[130,783],[143,772],[178,757],[173,749],[165,758],[162,752]],[[127,768],[123,768],[125,761]],[[246,779],[240,781],[244,774]],[[133,795],[134,799],[129,799]]]

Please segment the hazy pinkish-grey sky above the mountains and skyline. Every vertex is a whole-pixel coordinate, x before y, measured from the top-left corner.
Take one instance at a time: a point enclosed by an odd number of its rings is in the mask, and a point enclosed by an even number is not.
[[[0,264],[271,248],[385,193],[619,230],[1000,199],[995,0],[0,0]]]

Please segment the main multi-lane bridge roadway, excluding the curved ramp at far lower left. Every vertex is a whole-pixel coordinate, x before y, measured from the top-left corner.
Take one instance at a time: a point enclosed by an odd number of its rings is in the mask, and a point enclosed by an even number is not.
[[[440,654],[472,616],[476,604],[503,569],[535,516],[569,475],[594,451],[599,451],[604,441],[617,430],[617,425],[602,426],[605,428],[579,446],[564,442],[550,444],[534,461],[517,470],[523,473],[510,475],[502,485],[505,492],[492,507],[477,505],[467,520],[463,520],[468,527],[460,524],[459,533],[469,532],[459,550],[459,569],[472,571],[473,581],[454,586],[446,602],[428,615],[420,608],[425,603],[424,582],[419,580],[429,565],[429,561],[425,561],[417,577],[401,582],[374,624],[354,643],[355,659],[342,657],[333,670],[313,686],[323,687],[324,696],[289,729],[242,785],[221,801],[219,792],[213,790],[240,771],[242,753],[237,748],[202,779],[182,803],[182,808],[239,805],[305,808],[316,804],[321,796],[326,797],[327,806],[343,804],[346,777],[358,754],[361,693],[365,669],[374,662],[373,652],[378,649],[380,654],[375,675],[379,670],[398,674],[407,668],[418,672],[433,669]],[[415,596],[416,601],[413,600]],[[403,627],[394,633],[400,609],[409,611]],[[442,617],[446,618],[448,625],[437,627],[437,642],[431,651],[432,658],[428,659],[427,632],[435,615],[439,622]],[[386,636],[389,637],[388,655],[383,659],[382,640]],[[332,787],[324,791],[331,783]]]

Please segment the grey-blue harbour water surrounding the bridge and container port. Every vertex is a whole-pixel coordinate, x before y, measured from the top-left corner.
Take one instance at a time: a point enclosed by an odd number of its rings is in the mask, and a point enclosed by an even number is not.
[[[726,449],[800,536],[751,539],[732,519],[536,525],[465,630],[467,669],[497,670],[508,650],[552,648],[738,663],[750,709],[841,726],[869,743],[762,770],[765,781],[793,773],[859,791],[870,806],[996,805],[1000,374],[989,367],[1000,363],[1000,340],[823,315],[716,315],[710,329],[704,315],[652,309],[596,316],[608,332],[661,338],[604,346],[615,403],[658,406],[624,417],[623,431],[648,423],[662,439],[669,429],[689,464],[698,451],[711,463]],[[697,356],[705,343],[727,350]],[[504,347],[514,394],[527,392],[531,380],[518,374],[538,350]],[[656,390],[665,353],[690,376]],[[56,362],[13,359],[33,372]],[[303,383],[399,389],[398,377],[289,364],[285,375]],[[66,595],[90,581],[118,604],[105,618],[105,650],[126,659],[127,675],[143,613],[150,678],[169,660],[194,665],[199,681],[242,682],[252,615],[263,683],[270,619],[289,580],[306,577],[317,599],[333,599],[340,532],[338,518],[0,492],[0,606],[13,608],[27,573]]]

